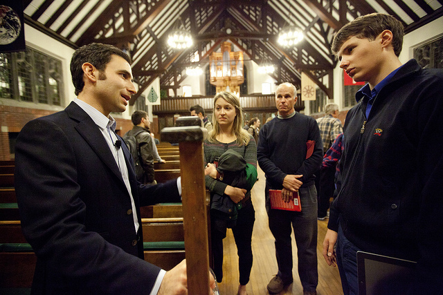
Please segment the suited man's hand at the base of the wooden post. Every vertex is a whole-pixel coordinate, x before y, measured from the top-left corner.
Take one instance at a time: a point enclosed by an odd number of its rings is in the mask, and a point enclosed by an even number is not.
[[[188,294],[188,276],[186,275],[186,259],[166,272],[159,288],[158,295]]]

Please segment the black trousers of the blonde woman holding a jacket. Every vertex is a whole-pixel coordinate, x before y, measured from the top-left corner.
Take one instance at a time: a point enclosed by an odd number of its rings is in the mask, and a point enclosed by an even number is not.
[[[237,245],[239,283],[246,285],[252,269],[252,231],[255,222],[255,210],[252,202],[238,211],[237,224],[233,227],[235,245]],[[212,224],[213,222],[211,222]],[[226,233],[211,229],[211,246],[213,249],[214,273],[217,282],[223,279],[223,239]]]

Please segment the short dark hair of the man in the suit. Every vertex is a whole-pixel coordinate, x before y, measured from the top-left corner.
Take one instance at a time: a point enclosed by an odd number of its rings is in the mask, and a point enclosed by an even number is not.
[[[112,55],[123,57],[128,64],[131,64],[131,58],[126,53],[109,44],[91,43],[75,50],[71,59],[71,75],[75,86],[75,95],[82,92],[84,87],[82,65],[89,62],[100,70],[100,74],[104,74],[106,65],[111,61]],[[99,75],[98,78],[104,80],[106,76]]]

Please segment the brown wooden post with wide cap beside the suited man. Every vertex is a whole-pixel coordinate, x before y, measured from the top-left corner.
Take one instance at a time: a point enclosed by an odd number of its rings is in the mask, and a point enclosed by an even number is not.
[[[199,117],[179,117],[176,126],[163,129],[161,138],[172,144],[179,143],[188,294],[208,294],[208,216],[203,150],[208,131],[201,128]]]

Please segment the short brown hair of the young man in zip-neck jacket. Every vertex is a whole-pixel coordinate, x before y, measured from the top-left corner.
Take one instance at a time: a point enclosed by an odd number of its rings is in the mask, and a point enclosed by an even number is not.
[[[403,24],[390,15],[380,13],[363,15],[345,24],[334,37],[331,50],[334,54],[338,53],[343,43],[350,39],[350,37],[374,40],[383,30],[390,30],[392,32],[392,47],[394,48],[395,55],[398,57],[403,47]]]

